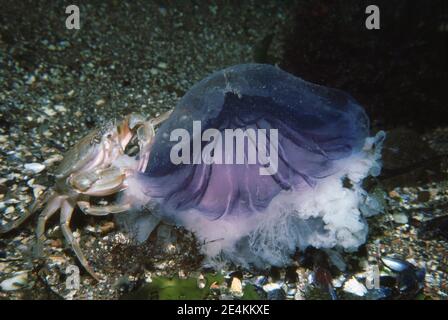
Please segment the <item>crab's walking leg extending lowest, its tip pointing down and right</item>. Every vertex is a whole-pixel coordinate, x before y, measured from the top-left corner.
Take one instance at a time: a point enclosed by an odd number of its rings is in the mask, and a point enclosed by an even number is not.
[[[70,230],[70,220],[72,218],[73,210],[75,209],[75,204],[71,203],[70,200],[65,200],[61,206],[61,230],[64,234],[65,240],[70,244],[76,256],[78,257],[79,262],[82,266],[87,270],[87,272],[97,281],[100,281],[98,275],[96,275],[95,271],[93,271],[92,267],[90,267],[87,259],[84,257],[84,254],[81,251],[81,247],[79,246],[78,240],[73,236],[73,232]]]

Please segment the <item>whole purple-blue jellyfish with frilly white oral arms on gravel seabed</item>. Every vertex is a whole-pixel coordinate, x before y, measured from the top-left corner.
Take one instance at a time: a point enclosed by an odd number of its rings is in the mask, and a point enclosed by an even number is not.
[[[179,101],[126,196],[193,231],[208,261],[281,266],[307,246],[354,250],[364,217],[381,210],[361,183],[380,172],[384,132],[368,134],[348,94],[271,65],[236,65]],[[133,223],[143,230],[147,219]]]

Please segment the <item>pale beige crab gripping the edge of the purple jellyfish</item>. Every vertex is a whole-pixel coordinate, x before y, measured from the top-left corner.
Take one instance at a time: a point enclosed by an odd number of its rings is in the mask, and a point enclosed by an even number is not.
[[[45,205],[38,217],[36,248],[40,252],[45,240],[47,220],[60,211],[60,227],[64,238],[72,247],[79,262],[97,281],[100,277],[89,265],[77,238],[70,229],[70,221],[76,206],[85,214],[93,216],[121,213],[131,208],[130,203],[91,205],[90,197],[104,197],[127,188],[126,180],[136,170],[144,171],[155,127],[166,120],[171,111],[146,120],[142,115],[130,114],[120,123],[110,122],[95,129],[76,143],[63,157],[55,171],[55,186],[38,197],[18,219],[0,226],[0,234],[16,229],[28,217]],[[126,146],[137,139],[139,151],[136,166],[115,165],[125,154]]]

